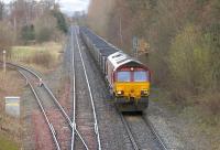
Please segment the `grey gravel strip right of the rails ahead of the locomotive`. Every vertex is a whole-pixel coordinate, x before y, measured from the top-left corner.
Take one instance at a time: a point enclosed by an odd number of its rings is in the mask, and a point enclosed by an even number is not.
[[[193,141],[183,138],[180,128],[184,128],[185,122],[182,118],[176,118],[166,109],[151,101],[146,117],[154,125],[156,131],[164,140],[168,149],[172,150],[196,150]],[[185,137],[186,138],[186,137]],[[198,149],[199,150],[199,149]]]

